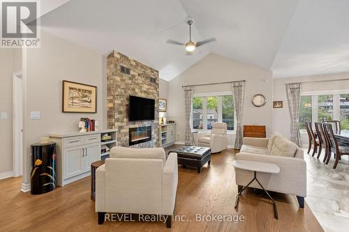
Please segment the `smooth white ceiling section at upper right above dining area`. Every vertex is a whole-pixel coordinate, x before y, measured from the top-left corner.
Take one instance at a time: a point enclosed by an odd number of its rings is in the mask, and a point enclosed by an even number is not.
[[[274,77],[349,71],[349,1],[299,0],[272,65]]]

